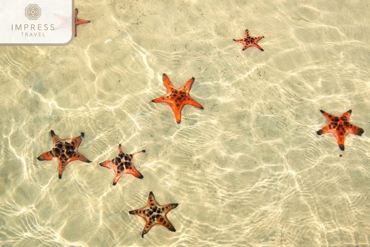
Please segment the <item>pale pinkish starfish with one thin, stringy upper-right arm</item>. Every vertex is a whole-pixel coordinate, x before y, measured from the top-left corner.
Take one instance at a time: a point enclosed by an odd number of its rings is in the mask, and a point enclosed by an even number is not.
[[[115,177],[113,180],[113,185],[116,185],[118,180],[123,176],[123,174],[128,173],[132,174],[137,178],[143,178],[141,173],[139,173],[138,170],[136,170],[134,164],[131,164],[131,160],[134,157],[135,154],[138,153],[145,153],[145,150],[142,150],[140,152],[136,152],[133,154],[124,154],[122,152],[122,146],[118,146],[118,150],[120,151],[120,154],[118,154],[119,157],[116,157],[113,160],[107,160],[102,163],[100,163],[100,166],[107,167],[109,169],[113,169],[115,173]]]

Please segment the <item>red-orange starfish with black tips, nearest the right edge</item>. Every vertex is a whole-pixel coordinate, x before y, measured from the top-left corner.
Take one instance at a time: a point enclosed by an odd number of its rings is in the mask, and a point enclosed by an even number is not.
[[[352,133],[357,136],[361,136],[364,133],[363,128],[354,126],[348,122],[349,117],[351,116],[352,110],[346,111],[340,117],[333,116],[329,113],[326,113],[323,110],[320,110],[322,114],[326,117],[328,123],[321,130],[317,131],[316,134],[321,136],[322,134],[331,132],[337,138],[337,143],[340,150],[344,151],[344,138],[347,134]]]

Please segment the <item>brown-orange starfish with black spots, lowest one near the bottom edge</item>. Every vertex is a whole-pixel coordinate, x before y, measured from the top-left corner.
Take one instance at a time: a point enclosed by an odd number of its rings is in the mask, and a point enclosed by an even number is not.
[[[153,192],[150,191],[147,206],[129,211],[129,214],[136,214],[145,220],[144,230],[142,230],[141,237],[157,224],[166,227],[170,231],[176,231],[175,227],[169,222],[166,214],[177,207],[178,203],[171,203],[165,206],[161,206],[157,203],[154,198]]]

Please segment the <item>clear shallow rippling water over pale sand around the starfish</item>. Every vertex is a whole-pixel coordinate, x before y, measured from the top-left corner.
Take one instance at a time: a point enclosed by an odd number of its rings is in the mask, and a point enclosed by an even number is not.
[[[369,246],[367,1],[76,1],[66,47],[0,47],[1,246]],[[245,29],[265,36],[242,51]],[[108,40],[108,41],[107,41]],[[111,40],[111,41],[110,41]],[[195,77],[180,124],[166,89]],[[318,136],[352,109],[365,129]],[[58,179],[36,158],[85,133]],[[99,166],[142,149],[143,179]],[[342,157],[339,155],[342,154]],[[153,191],[171,232],[128,214]]]

